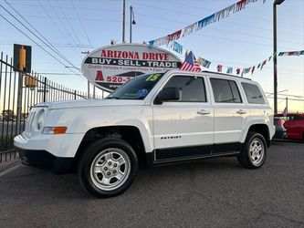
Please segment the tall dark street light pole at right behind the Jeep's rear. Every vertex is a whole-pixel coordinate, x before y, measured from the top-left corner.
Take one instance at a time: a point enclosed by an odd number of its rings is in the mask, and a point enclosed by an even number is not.
[[[277,5],[285,0],[275,0],[273,3],[273,92],[274,92],[274,111],[278,114],[278,66],[277,66]]]

